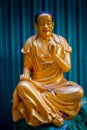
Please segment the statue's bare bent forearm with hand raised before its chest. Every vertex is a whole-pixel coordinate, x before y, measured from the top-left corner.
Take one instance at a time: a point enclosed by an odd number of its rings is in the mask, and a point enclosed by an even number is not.
[[[58,64],[58,67],[64,71],[69,72],[71,69],[71,61],[70,61],[70,51],[66,49],[62,44],[55,47],[51,45],[51,49],[49,52],[53,59]]]

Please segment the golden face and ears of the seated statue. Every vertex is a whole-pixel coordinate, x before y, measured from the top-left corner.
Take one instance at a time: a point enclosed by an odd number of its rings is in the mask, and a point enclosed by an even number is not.
[[[50,36],[54,27],[50,14],[41,14],[37,18],[36,28],[40,36]]]

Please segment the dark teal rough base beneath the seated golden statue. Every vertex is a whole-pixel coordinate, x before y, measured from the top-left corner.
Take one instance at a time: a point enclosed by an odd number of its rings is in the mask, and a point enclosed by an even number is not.
[[[65,120],[59,128],[52,124],[33,127],[29,126],[25,120],[19,120],[14,123],[14,130],[87,130],[87,97],[82,100],[82,107],[78,116],[72,120]]]

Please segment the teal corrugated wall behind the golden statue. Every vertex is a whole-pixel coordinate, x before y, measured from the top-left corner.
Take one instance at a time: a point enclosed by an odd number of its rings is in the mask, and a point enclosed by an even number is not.
[[[25,40],[35,34],[34,15],[49,10],[54,15],[54,33],[72,46],[72,69],[68,80],[79,83],[87,95],[87,1],[0,0],[0,130],[12,130],[11,99],[23,68],[20,52]]]

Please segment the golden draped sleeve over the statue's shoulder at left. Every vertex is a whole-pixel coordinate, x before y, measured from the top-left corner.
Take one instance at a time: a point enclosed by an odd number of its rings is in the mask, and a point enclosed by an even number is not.
[[[26,42],[25,42],[23,48],[21,49],[21,52],[22,52],[23,54],[30,53],[30,48],[31,48],[31,46],[32,46],[32,42],[33,42],[33,40],[34,40],[36,37],[37,37],[37,35],[33,35],[33,36],[29,37],[29,38],[26,40]]]

